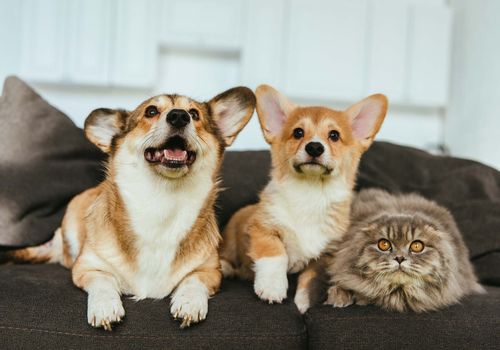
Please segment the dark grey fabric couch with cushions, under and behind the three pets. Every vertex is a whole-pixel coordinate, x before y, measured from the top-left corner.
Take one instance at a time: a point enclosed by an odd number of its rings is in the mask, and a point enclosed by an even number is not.
[[[21,119],[14,128],[9,119],[13,113]],[[51,115],[53,125],[63,121],[67,125],[55,131],[32,128],[27,133],[26,124],[36,120],[36,113]],[[66,119],[17,78],[6,82],[0,99],[3,249],[49,239],[69,198],[102,178],[102,154],[85,144],[81,130]],[[8,133],[1,134],[6,127]],[[68,133],[65,128],[74,133],[69,139],[63,137]],[[23,133],[31,139],[24,140]],[[11,150],[11,143],[16,142],[33,143],[30,147],[38,155],[29,159],[29,165],[13,157],[17,151]],[[46,144],[52,145],[52,151],[41,151]],[[224,191],[217,204],[221,227],[238,208],[257,200],[268,181],[269,167],[267,151],[226,153],[221,171]],[[488,293],[423,314],[319,304],[301,315],[293,304],[296,276],[290,276],[289,297],[280,305],[260,301],[251,283],[224,280],[209,301],[208,318],[198,325],[181,330],[167,300],[135,302],[124,297],[125,320],[107,332],[87,324],[87,296],[72,284],[68,270],[58,265],[0,265],[0,348],[500,348],[500,173],[473,161],[375,142],[360,165],[357,190],[367,187],[419,192],[447,206]],[[16,230],[23,233],[22,238]]]

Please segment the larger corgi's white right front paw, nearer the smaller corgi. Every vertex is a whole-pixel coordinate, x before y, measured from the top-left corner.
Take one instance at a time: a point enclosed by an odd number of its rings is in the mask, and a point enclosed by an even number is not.
[[[170,313],[181,321],[181,328],[203,321],[208,313],[208,291],[197,279],[185,282],[175,290],[170,301]]]

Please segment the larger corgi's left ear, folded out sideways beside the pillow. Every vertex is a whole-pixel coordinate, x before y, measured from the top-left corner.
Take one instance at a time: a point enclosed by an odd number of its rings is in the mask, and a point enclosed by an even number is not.
[[[113,138],[121,134],[128,112],[121,109],[99,108],[85,119],[85,136],[102,151],[109,153]]]

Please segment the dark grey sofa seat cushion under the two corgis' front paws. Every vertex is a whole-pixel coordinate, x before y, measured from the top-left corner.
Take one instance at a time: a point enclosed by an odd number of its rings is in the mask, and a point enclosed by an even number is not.
[[[251,284],[225,280],[208,318],[181,330],[167,300],[123,297],[126,316],[112,332],[87,324],[87,296],[58,265],[0,266],[2,349],[303,349],[307,333],[291,301],[267,305]],[[291,300],[291,298],[289,298]]]

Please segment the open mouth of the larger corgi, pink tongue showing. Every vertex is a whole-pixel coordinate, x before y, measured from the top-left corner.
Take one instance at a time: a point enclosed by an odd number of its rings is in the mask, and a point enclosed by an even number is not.
[[[188,144],[183,137],[172,136],[158,148],[147,148],[144,158],[152,164],[161,164],[168,168],[182,168],[194,163],[196,152],[188,149]]]

